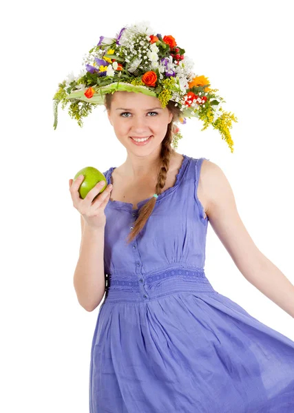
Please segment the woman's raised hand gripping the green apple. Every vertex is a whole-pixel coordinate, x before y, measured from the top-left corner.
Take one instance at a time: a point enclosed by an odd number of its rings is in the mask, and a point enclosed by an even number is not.
[[[112,184],[107,185],[105,190],[99,193],[105,185],[105,181],[102,180],[87,193],[84,199],[82,199],[78,192],[78,188],[81,186],[83,179],[84,177],[81,176],[81,178],[76,179],[74,183],[72,183],[72,179],[70,179],[69,181],[70,194],[72,195],[74,208],[76,208],[78,212],[83,215],[85,222],[87,222],[89,226],[95,229],[101,228],[106,224],[106,216],[104,210],[110,198]],[[95,198],[98,193],[99,195],[97,196],[96,200],[92,202],[93,198]]]

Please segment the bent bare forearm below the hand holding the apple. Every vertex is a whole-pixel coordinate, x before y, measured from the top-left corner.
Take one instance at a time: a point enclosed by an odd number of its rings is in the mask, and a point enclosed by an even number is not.
[[[81,246],[74,272],[74,289],[78,302],[87,311],[93,311],[105,293],[104,227],[92,229],[81,215]]]

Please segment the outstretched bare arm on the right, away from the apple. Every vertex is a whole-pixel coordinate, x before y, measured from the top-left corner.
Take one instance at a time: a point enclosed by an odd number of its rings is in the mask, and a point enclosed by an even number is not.
[[[240,218],[233,191],[222,169],[204,160],[200,177],[207,200],[205,212],[235,265],[247,281],[294,317],[294,286],[253,242]]]

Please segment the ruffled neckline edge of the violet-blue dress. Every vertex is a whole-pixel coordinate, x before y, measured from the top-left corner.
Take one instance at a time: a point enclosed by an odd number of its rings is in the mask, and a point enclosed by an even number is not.
[[[182,180],[182,176],[184,175],[185,169],[189,163],[189,161],[191,160],[191,158],[189,158],[189,156],[185,155],[185,153],[182,153],[183,159],[182,159],[182,164],[180,165],[180,169],[178,170],[178,173],[176,174],[176,182],[174,183],[174,185],[172,187],[169,187],[167,189],[165,189],[165,191],[163,191],[162,193],[160,193],[158,195],[158,198],[156,198],[156,204],[158,202],[160,202],[162,200],[162,198],[165,198],[165,196],[167,196],[169,193],[174,192],[176,190],[176,188],[178,187],[178,184],[180,184],[180,181]],[[110,167],[108,169],[108,173],[107,173],[107,183],[111,183],[111,177],[112,177],[112,172],[114,171],[114,169],[116,169],[116,167]],[[137,202],[137,207],[136,209],[133,209],[133,204],[132,202],[123,202],[123,201],[116,201],[116,200],[110,200],[109,198],[109,202],[107,203],[107,206],[112,206],[112,207],[118,207],[118,208],[123,208],[123,209],[127,209],[128,211],[138,211],[141,207],[141,205],[145,204],[145,202],[149,201],[151,199],[151,197],[146,198],[145,200],[139,201]]]

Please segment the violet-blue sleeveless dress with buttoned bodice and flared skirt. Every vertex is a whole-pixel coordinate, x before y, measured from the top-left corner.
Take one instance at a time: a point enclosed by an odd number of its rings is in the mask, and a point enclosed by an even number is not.
[[[105,207],[106,294],[90,361],[90,413],[293,413],[294,341],[213,289],[202,161],[182,154],[176,183],[127,245],[150,198]],[[110,183],[114,167],[103,174]]]

